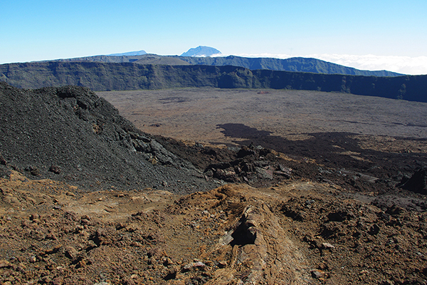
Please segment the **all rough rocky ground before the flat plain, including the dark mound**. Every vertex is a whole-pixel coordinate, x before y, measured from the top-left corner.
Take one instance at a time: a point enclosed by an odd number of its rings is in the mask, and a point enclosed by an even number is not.
[[[427,284],[424,138],[236,121],[216,145],[1,88],[3,284]]]

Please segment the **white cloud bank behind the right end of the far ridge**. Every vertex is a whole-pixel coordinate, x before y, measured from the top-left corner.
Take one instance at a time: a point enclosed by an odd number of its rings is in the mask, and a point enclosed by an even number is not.
[[[224,56],[221,54],[221,56]],[[427,74],[427,56],[375,56],[372,54],[364,56],[356,56],[351,54],[309,54],[306,56],[295,56],[288,54],[273,54],[273,53],[260,53],[248,54],[240,53],[235,56],[244,57],[263,57],[263,58],[317,58],[322,61],[329,61],[337,63],[342,66],[349,66],[367,71],[394,71],[397,73],[420,75]]]

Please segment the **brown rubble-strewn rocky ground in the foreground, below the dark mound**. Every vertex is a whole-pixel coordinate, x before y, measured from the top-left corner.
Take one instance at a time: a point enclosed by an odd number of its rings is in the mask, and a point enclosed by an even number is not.
[[[176,197],[87,193],[13,171],[0,188],[3,284],[427,282],[425,210],[328,183]],[[406,199],[426,209],[423,197]]]

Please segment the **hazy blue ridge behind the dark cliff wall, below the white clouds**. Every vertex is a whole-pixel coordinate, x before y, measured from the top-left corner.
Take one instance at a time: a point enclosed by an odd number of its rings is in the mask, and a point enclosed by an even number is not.
[[[251,70],[268,69],[270,71],[297,71],[326,74],[348,74],[354,76],[403,76],[391,71],[361,71],[356,68],[321,61],[316,58],[243,58],[240,56],[200,58],[181,56],[183,61],[203,66],[241,66]]]

